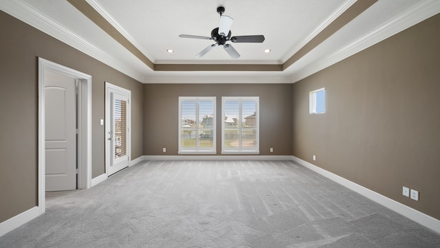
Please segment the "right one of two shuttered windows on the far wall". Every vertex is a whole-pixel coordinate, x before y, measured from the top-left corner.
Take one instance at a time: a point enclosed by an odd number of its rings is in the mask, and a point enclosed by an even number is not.
[[[259,97],[222,97],[221,154],[259,154]]]

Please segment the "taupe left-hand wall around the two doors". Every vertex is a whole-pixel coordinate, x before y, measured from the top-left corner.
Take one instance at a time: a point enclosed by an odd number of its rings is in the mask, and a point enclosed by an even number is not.
[[[92,76],[92,170],[104,173],[104,81],[131,90],[131,156],[142,156],[142,83],[0,11],[0,223],[38,205],[38,57]]]

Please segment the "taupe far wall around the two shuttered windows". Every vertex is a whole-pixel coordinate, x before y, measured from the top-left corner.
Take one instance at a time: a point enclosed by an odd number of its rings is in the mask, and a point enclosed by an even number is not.
[[[144,155],[177,155],[179,96],[217,96],[217,155],[221,155],[221,96],[259,96],[260,155],[292,154],[292,85],[228,83],[144,85]]]

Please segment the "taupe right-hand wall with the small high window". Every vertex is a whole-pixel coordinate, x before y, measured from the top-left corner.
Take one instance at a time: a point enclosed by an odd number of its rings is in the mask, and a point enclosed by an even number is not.
[[[293,155],[440,219],[439,31],[437,14],[294,83]],[[327,112],[309,115],[321,87]]]

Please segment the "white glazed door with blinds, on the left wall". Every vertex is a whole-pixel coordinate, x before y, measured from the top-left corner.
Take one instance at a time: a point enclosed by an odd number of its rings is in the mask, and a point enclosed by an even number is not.
[[[107,83],[107,176],[129,166],[130,92]]]

